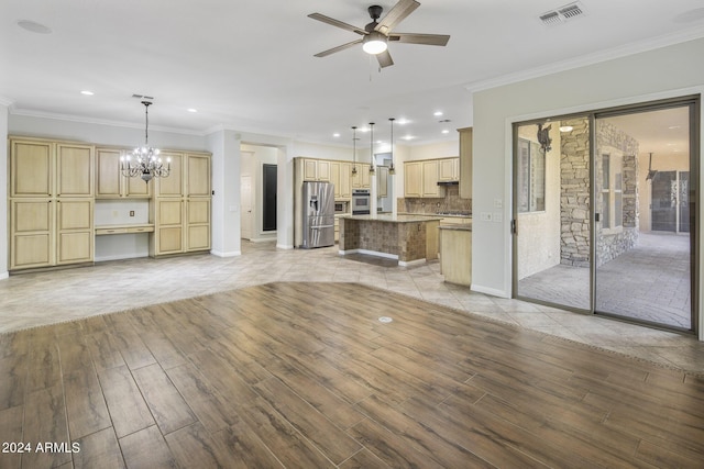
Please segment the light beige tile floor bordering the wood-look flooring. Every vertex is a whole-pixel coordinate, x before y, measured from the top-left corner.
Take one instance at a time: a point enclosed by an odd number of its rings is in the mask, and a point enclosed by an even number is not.
[[[667,367],[704,373],[694,336],[495,298],[446,283],[438,261],[397,267],[337,246],[276,249],[242,242],[242,256],[128,259],[0,280],[0,332],[124,311],[270,281],[360,282]]]

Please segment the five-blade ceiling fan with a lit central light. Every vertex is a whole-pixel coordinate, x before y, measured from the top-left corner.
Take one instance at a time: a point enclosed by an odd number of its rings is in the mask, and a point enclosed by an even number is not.
[[[396,3],[381,21],[376,21],[382,16],[382,11],[384,11],[384,9],[377,4],[373,4],[367,9],[370,16],[372,16],[372,22],[364,27],[356,27],[330,16],[326,16],[324,14],[311,13],[308,18],[322,21],[323,23],[328,23],[333,26],[342,27],[343,30],[352,31],[353,33],[362,36],[356,41],[318,53],[316,54],[316,57],[326,57],[330,54],[334,54],[336,52],[353,47],[356,44],[362,44],[364,52],[376,55],[376,59],[381,67],[388,67],[394,65],[394,60],[392,59],[387,48],[387,43],[389,41],[407,44],[426,44],[431,46],[447,45],[448,41],[450,41],[450,36],[444,34],[392,32],[398,23],[406,19],[406,16],[413,13],[418,7],[420,7],[420,3],[416,0],[398,0],[398,3]]]

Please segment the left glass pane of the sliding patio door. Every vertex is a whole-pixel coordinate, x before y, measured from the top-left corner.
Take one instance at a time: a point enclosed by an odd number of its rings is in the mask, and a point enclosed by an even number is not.
[[[572,130],[560,132],[562,125]],[[590,310],[588,119],[553,121],[552,149],[547,153],[540,149],[537,131],[536,124],[518,126],[516,292],[519,298]],[[520,186],[528,176],[521,176],[522,141],[530,142],[530,190]],[[527,212],[521,197],[529,192]]]

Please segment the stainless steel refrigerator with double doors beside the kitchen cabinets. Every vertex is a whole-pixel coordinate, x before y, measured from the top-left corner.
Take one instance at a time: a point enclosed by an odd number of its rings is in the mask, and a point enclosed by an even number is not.
[[[304,182],[304,243],[300,247],[334,245],[334,185]]]

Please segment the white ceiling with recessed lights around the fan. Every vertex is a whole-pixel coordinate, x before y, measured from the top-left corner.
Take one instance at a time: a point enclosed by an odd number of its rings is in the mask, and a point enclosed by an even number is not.
[[[376,3],[387,12],[395,0]],[[388,118],[407,119],[394,135],[416,144],[457,139],[454,129],[472,125],[468,87],[704,36],[702,0],[582,0],[579,19],[539,21],[566,3],[422,0],[395,31],[449,34],[448,46],[393,43],[395,65],[380,72],[361,47],[314,57],[359,36],[307,18],[364,26],[370,0],[3,0],[0,101],[15,114],[141,126],[140,93],[155,98],[151,129],[343,145],[352,125],[376,122],[387,139]],[[28,32],[20,20],[52,33]]]

